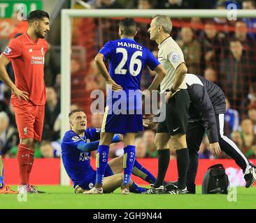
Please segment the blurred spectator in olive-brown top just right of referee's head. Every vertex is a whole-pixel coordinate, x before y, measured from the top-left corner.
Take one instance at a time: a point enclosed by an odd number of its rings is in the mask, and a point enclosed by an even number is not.
[[[187,72],[200,74],[201,45],[194,38],[194,33],[190,27],[183,27],[180,34],[181,40],[178,40],[177,43],[183,51]]]

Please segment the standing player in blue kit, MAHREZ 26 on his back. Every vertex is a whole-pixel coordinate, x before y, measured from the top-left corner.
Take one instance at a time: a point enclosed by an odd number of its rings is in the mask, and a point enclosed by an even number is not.
[[[131,171],[136,156],[135,133],[143,131],[141,112],[141,73],[145,66],[155,70],[157,75],[148,88],[156,90],[166,72],[155,56],[146,47],[136,43],[136,22],[125,18],[119,23],[120,39],[108,41],[101,48],[95,61],[106,83],[111,85],[108,91],[104,120],[101,126],[101,139],[97,149],[96,184],[87,194],[102,194],[102,183],[108,164],[109,144],[114,134],[124,135],[124,178],[122,194],[129,194]],[[104,61],[109,60],[109,71]],[[120,108],[121,106],[121,108]]]

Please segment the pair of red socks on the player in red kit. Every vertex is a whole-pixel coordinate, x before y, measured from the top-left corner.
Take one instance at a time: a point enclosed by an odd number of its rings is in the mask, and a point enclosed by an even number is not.
[[[29,184],[29,174],[34,162],[34,151],[31,146],[19,144],[17,151],[17,164],[19,167],[20,185]]]

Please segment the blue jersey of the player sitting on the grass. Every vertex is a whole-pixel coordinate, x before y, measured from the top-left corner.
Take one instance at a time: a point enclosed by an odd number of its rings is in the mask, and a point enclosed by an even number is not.
[[[99,140],[100,131],[100,129],[87,128],[85,137],[79,137],[72,130],[64,134],[62,139],[62,162],[74,185],[84,183],[87,179],[95,176],[95,171],[90,164],[91,153],[80,151],[78,144],[81,140],[87,143]]]

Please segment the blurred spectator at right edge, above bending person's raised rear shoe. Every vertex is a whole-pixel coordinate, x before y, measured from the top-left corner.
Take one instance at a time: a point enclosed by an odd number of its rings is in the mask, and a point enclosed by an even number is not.
[[[241,121],[241,138],[243,141],[240,148],[247,158],[256,157],[256,135],[253,130],[253,121],[249,118],[244,118]]]

